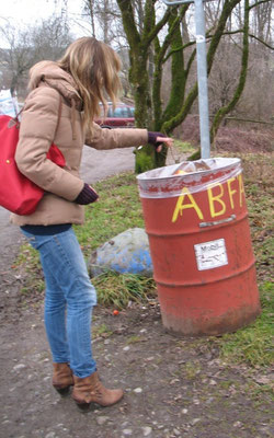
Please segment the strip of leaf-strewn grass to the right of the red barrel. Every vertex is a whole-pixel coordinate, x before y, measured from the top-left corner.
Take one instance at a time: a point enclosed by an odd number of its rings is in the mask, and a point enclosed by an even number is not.
[[[273,159],[271,154],[244,154],[244,189],[260,290],[262,313],[248,327],[222,336],[220,355],[227,361],[252,367],[273,362]]]

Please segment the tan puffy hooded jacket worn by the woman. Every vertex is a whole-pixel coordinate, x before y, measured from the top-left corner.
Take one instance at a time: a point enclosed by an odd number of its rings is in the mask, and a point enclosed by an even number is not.
[[[15,161],[24,175],[44,188],[45,195],[34,214],[12,215],[11,221],[19,226],[83,223],[84,208],[73,203],[84,185],[79,176],[83,145],[95,149],[140,146],[147,142],[147,129],[103,129],[94,124],[93,138],[85,138],[82,101],[70,74],[55,62],[43,61],[33,68],[30,83],[33,91],[22,113]],[[65,157],[65,168],[46,158],[53,142]]]

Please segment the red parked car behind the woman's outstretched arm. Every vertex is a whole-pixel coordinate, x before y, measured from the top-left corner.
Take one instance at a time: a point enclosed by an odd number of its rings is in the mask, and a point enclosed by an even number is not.
[[[103,115],[102,118],[95,120],[102,127],[109,128],[130,128],[135,124],[134,119],[134,106],[126,105],[123,102],[118,102],[116,107],[113,108],[112,103],[109,103],[109,110],[106,117]]]

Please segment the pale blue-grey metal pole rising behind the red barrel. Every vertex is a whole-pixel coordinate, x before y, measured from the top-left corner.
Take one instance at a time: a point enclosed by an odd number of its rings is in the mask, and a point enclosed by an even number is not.
[[[204,159],[210,158],[205,13],[204,13],[203,0],[175,0],[175,1],[162,0],[162,1],[167,5],[176,5],[183,3],[195,4],[201,155]]]

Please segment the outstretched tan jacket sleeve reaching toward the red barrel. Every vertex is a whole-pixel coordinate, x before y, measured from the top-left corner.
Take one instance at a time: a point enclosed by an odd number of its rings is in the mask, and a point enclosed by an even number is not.
[[[85,145],[94,149],[115,149],[141,146],[148,142],[147,129],[137,128],[101,128],[93,124],[92,137],[85,137]]]

